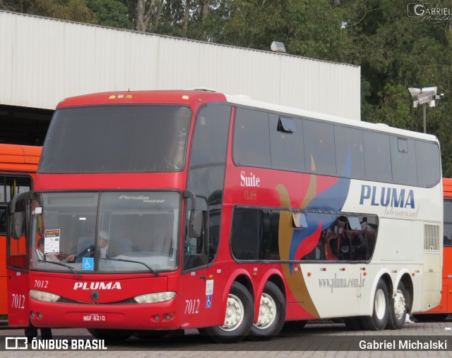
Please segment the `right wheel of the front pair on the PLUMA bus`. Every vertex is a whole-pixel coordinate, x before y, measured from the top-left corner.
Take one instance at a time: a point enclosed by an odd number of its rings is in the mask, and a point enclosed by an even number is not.
[[[273,282],[267,282],[263,288],[259,316],[251,327],[251,340],[270,339],[278,335],[285,321],[285,298],[281,290]]]

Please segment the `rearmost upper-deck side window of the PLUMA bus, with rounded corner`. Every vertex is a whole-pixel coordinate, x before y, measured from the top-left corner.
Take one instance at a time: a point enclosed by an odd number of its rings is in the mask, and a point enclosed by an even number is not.
[[[441,179],[439,147],[435,143],[415,141],[417,184],[432,187]]]

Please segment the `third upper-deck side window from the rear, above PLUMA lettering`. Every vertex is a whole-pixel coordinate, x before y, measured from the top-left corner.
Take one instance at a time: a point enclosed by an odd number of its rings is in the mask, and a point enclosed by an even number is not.
[[[366,178],[391,181],[391,152],[389,135],[364,131],[364,160]]]

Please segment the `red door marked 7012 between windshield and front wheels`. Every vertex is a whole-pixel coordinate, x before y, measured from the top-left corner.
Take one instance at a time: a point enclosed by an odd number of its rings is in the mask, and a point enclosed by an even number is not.
[[[196,204],[192,203],[196,200]],[[186,228],[182,255],[182,328],[209,326],[215,315],[209,314],[212,307],[213,280],[207,276],[208,233],[206,199],[191,195],[186,200]]]

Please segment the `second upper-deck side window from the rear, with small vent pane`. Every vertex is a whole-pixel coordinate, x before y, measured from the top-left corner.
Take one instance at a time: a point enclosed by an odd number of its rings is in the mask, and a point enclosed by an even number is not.
[[[414,140],[391,136],[391,163],[396,183],[417,185]]]

